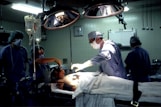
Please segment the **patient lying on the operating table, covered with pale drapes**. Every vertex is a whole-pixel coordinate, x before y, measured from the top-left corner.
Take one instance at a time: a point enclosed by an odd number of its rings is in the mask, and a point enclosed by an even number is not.
[[[51,84],[54,83],[53,86],[58,89],[74,91],[72,98],[76,98],[81,93],[90,93],[108,94],[109,98],[131,101],[132,105],[138,105],[138,102],[160,103],[161,101],[160,82],[140,82],[136,91],[133,89],[133,81],[100,72],[65,74],[66,72],[60,67],[55,68],[51,72]],[[141,95],[138,91],[142,92]]]

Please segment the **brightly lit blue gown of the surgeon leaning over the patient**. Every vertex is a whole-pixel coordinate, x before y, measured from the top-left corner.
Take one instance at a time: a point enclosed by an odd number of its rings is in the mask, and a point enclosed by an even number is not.
[[[91,61],[93,64],[99,64],[100,71],[109,76],[126,78],[121,52],[119,47],[111,40],[104,42],[98,55],[92,58]]]

